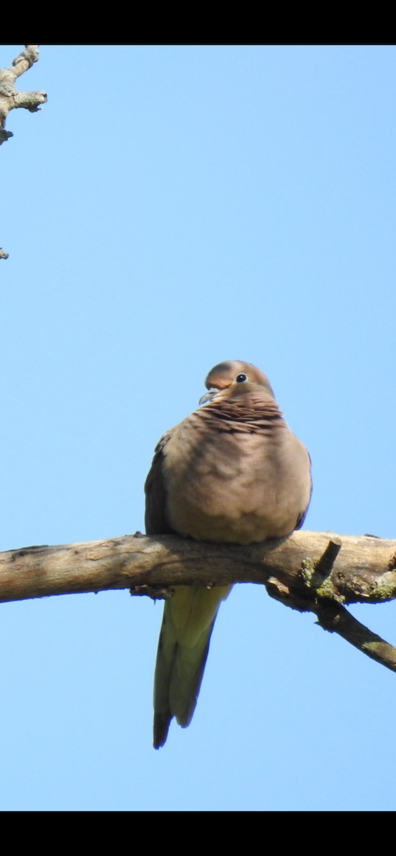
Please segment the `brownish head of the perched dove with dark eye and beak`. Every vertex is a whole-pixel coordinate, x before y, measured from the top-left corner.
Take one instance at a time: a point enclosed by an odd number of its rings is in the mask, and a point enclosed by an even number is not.
[[[249,392],[264,392],[273,395],[273,389],[266,375],[243,360],[226,360],[219,363],[207,375],[205,386],[208,392],[202,395],[200,404],[212,401],[215,395],[226,391],[227,398],[246,395]]]

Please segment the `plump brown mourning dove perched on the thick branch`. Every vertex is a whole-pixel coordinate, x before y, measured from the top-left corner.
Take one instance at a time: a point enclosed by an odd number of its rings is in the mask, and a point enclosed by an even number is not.
[[[240,360],[214,366],[200,407],[161,437],[147,476],[146,531],[219,544],[285,538],[311,495],[307,449],[267,377]],[[154,740],[195,710],[213,624],[231,586],[177,586],[165,602],[154,678]]]

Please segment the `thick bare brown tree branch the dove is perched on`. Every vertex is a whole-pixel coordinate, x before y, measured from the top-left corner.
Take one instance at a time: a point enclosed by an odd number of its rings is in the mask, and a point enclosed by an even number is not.
[[[396,671],[396,649],[345,609],[396,597],[396,541],[294,532],[266,544],[207,544],[136,532],[124,538],[0,553],[0,601],[131,588],[169,597],[172,586],[261,583],[285,605],[317,615],[368,657]]]

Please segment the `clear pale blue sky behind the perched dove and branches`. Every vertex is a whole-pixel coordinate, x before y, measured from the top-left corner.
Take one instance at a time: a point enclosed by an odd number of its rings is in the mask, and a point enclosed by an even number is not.
[[[3,45],[0,67],[21,45]],[[2,550],[143,530],[155,443],[248,360],[305,528],[396,538],[393,45],[42,45],[1,147]],[[396,605],[353,613],[396,641]],[[162,605],[2,605],[0,808],[393,811],[396,676],[267,597],[152,748]]]

